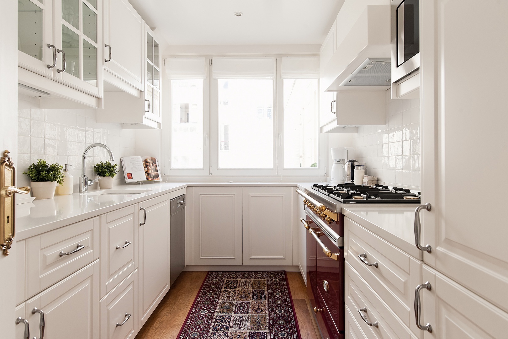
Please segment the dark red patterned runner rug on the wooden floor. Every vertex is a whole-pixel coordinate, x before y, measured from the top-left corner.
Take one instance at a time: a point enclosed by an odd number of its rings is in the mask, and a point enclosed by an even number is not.
[[[300,338],[285,271],[208,272],[178,338]]]

